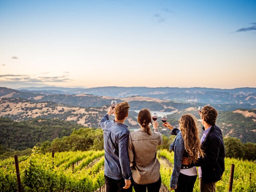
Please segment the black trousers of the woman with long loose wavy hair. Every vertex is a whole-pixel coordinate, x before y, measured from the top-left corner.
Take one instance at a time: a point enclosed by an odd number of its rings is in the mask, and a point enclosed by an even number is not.
[[[188,176],[182,173],[179,174],[177,189],[175,192],[193,192],[194,184],[196,182],[197,175]]]

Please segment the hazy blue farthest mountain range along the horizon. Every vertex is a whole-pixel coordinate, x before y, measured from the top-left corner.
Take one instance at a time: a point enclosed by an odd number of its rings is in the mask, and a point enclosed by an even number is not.
[[[60,88],[60,87],[26,87],[21,92],[40,94],[91,94],[126,98],[131,96],[151,97],[167,101],[211,104],[256,104],[256,88],[214,89],[214,88],[175,88],[175,87],[96,87],[96,88]]]

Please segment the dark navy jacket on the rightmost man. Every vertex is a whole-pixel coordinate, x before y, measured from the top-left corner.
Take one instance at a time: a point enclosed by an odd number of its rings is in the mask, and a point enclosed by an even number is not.
[[[225,146],[221,129],[218,126],[215,124],[212,126],[201,148],[205,156],[199,158],[195,165],[202,168],[202,183],[219,181],[225,170]]]

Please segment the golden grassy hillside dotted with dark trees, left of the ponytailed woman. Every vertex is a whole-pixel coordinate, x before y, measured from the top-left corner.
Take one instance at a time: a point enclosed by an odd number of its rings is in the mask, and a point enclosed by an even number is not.
[[[20,98],[2,98],[0,99],[0,117],[10,118],[15,121],[34,118],[57,118],[86,127],[99,127],[100,119],[107,113],[109,106],[82,108],[69,107],[53,102],[33,102]],[[136,115],[132,115],[132,112],[130,114],[126,124],[131,128],[137,127]]]

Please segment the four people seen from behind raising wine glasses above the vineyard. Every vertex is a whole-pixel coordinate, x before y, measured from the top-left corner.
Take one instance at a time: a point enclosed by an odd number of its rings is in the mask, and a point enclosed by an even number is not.
[[[163,142],[159,124],[152,121],[148,109],[142,109],[138,113],[140,128],[130,132],[124,124],[129,108],[128,102],[118,103],[115,108],[110,107],[100,121],[104,135],[106,192],[132,192],[132,188],[135,192],[159,192],[161,175],[156,151]],[[115,119],[109,120],[113,113]],[[179,129],[163,123],[176,135],[170,145],[170,150],[174,151],[170,187],[175,192],[192,192],[197,174],[200,192],[215,192],[215,184],[225,169],[222,132],[215,125],[218,112],[211,106],[204,106],[200,115],[204,126],[201,139],[192,114],[181,116]]]

